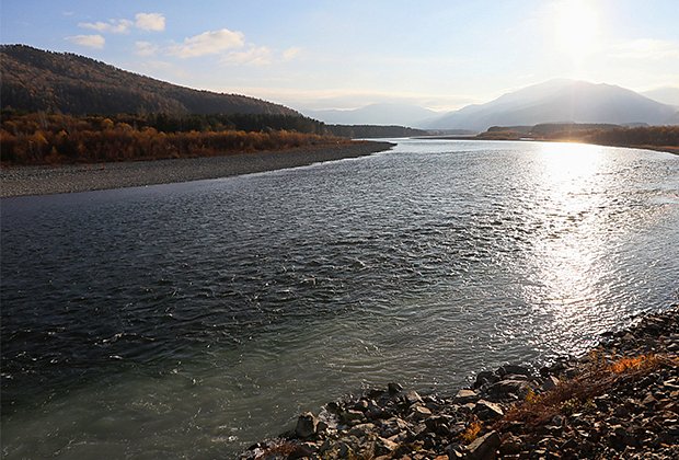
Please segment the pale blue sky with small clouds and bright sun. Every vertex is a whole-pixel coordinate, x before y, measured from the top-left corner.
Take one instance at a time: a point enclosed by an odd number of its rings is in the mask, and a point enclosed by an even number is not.
[[[2,0],[0,42],[290,107],[679,87],[679,0]]]

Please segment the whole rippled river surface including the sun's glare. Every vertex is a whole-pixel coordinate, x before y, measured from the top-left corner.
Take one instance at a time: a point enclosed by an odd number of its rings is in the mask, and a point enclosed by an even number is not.
[[[231,458],[302,410],[453,391],[677,301],[679,158],[403,140],[3,199],[5,458]]]

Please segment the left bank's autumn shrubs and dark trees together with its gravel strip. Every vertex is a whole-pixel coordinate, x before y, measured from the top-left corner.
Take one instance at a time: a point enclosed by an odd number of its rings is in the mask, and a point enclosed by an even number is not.
[[[390,142],[288,115],[71,116],[2,112],[0,196],[188,182],[367,156]]]

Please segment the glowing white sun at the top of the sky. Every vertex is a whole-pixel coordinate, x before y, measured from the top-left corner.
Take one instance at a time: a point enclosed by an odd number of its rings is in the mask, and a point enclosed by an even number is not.
[[[590,55],[597,47],[599,19],[594,2],[562,0],[554,9],[556,44],[573,60]]]

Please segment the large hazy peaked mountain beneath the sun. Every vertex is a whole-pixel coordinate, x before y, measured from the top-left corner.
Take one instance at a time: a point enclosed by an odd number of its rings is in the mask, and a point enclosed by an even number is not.
[[[672,106],[624,88],[557,79],[523,88],[485,104],[468,105],[430,122],[425,128],[482,131],[496,125],[562,122],[664,125],[672,122],[676,112]]]

